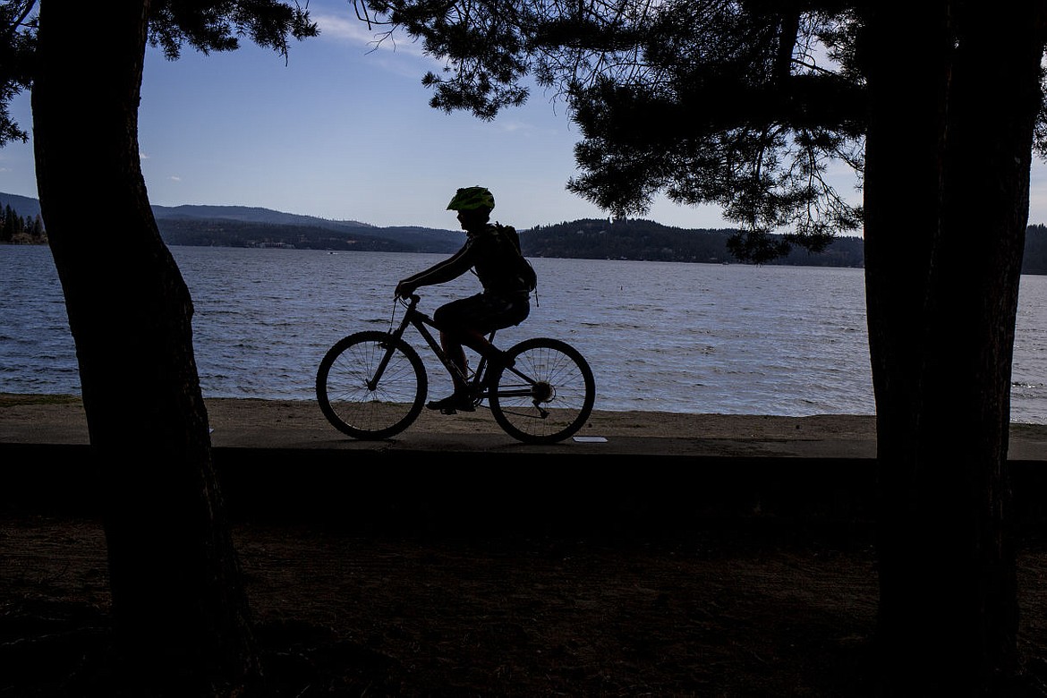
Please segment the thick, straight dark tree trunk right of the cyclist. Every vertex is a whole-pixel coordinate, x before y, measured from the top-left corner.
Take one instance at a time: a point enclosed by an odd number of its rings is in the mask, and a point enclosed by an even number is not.
[[[1018,680],[1006,459],[1039,4],[877,2],[867,24],[885,695]]]

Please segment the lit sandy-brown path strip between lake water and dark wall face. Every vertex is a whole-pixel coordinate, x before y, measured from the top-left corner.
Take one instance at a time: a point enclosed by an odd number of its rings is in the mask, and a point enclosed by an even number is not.
[[[375,447],[338,432],[315,401],[219,398],[205,399],[204,403],[211,443],[218,448]],[[876,423],[871,414],[773,416],[595,410],[577,436],[606,440],[605,450],[625,454],[643,454],[649,449],[686,456],[874,458]],[[79,397],[0,393],[0,445],[88,443],[87,420]],[[453,415],[422,410],[418,421],[393,440],[392,447],[469,450],[512,444],[516,442],[482,406],[475,412]],[[389,446],[386,443],[382,448]],[[1009,457],[1047,461],[1047,425],[1012,424]]]

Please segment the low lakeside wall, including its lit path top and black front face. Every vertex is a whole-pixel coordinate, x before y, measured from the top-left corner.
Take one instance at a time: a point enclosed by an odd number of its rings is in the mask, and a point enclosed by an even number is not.
[[[0,407],[0,509],[90,516],[95,483],[79,401]],[[485,410],[427,413],[358,442],[312,403],[207,401],[216,469],[238,519],[367,532],[683,532],[722,519],[867,527],[874,420],[653,412],[594,414],[549,446],[502,433]],[[1016,517],[1047,519],[1047,426],[1015,425]],[[148,467],[143,459],[142,467]]]

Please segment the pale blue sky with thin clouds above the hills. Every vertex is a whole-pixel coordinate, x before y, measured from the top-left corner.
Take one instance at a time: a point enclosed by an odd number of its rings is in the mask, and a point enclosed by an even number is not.
[[[461,186],[495,197],[492,219],[517,229],[605,218],[565,189],[581,139],[562,102],[540,88],[493,121],[428,105],[421,85],[442,64],[406,37],[374,45],[377,30],[344,0],[312,0],[319,37],[293,42],[288,60],[242,42],[202,55],[146,58],[138,140],[150,201],[260,206],[378,226],[458,229],[447,202]],[[293,40],[292,40],[293,41]],[[13,116],[31,131],[28,94]],[[87,163],[84,176],[90,176]],[[853,177],[833,175],[860,201]],[[1047,223],[1047,166],[1033,171],[1030,223]],[[37,197],[31,134],[0,149],[0,192]],[[643,218],[682,228],[726,228],[714,206],[655,201]]]

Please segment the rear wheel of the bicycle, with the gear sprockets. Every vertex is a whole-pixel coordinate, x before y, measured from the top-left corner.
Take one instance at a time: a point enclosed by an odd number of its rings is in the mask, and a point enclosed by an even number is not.
[[[506,433],[525,444],[555,444],[582,428],[596,401],[596,380],[578,350],[536,337],[507,355],[513,364],[488,396],[491,414]]]

